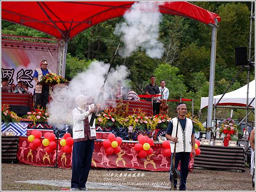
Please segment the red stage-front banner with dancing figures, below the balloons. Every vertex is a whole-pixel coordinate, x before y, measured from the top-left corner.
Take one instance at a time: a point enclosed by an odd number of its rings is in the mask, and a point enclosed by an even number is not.
[[[41,138],[41,142],[43,139]],[[138,151],[134,149],[135,144],[122,142],[120,145],[121,151],[118,154],[107,155],[102,141],[95,141],[91,166],[102,169],[133,168],[148,171],[169,171],[171,157],[165,157],[163,155],[164,147],[162,144],[158,143],[152,146],[153,154],[147,155],[145,158],[139,157]],[[47,154],[44,145],[36,150],[30,150],[27,137],[20,137],[17,159],[20,163],[37,166],[54,166],[56,149],[51,154]],[[60,145],[58,145],[57,163],[58,167],[61,168],[67,169],[72,167],[72,153],[63,153]],[[194,160],[192,158],[189,163],[190,172],[193,171],[193,163]]]

